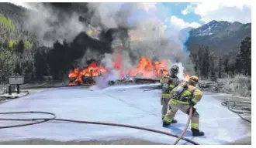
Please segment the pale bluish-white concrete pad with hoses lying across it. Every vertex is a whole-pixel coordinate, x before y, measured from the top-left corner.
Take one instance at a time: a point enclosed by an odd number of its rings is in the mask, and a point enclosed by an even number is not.
[[[58,88],[12,100],[0,106],[0,112],[44,111],[55,113],[61,119],[109,122],[143,126],[155,130],[179,134],[188,116],[178,112],[178,123],[161,126],[160,90],[143,91],[140,86],[112,86],[107,89]],[[251,136],[251,124],[237,114],[221,106],[220,99],[205,95],[196,105],[200,114],[200,129],[206,136],[192,137],[190,130],[185,137],[200,144],[225,144]],[[46,115],[6,115],[0,118],[47,117]],[[16,125],[18,121],[1,121],[0,126]],[[24,123],[24,122],[22,122]],[[190,129],[190,127],[189,127]],[[158,133],[123,127],[100,126],[79,123],[47,122],[33,126],[0,129],[0,141],[46,139],[71,140],[119,140],[132,138],[171,144],[175,138]],[[179,144],[190,144],[183,140]]]

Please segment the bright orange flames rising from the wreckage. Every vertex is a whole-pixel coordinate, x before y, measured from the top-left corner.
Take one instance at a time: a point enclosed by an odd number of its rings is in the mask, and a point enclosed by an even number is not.
[[[146,79],[157,79],[161,76],[168,74],[168,66],[165,60],[153,62],[146,57],[140,57],[137,66],[133,69],[123,69],[122,56],[119,54],[122,48],[119,48],[118,52],[115,52],[112,57],[112,67],[119,72],[119,79],[126,78],[126,76],[140,77]],[[70,79],[69,86],[76,86],[83,83],[88,83],[85,79],[92,79],[96,76],[101,76],[109,72],[104,66],[99,66],[97,62],[92,62],[87,68],[79,70],[74,69],[68,75]],[[89,84],[93,84],[90,82]]]

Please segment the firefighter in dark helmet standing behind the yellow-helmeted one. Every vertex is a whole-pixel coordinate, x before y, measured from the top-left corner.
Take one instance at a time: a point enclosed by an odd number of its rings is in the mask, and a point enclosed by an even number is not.
[[[172,66],[170,70],[170,75],[169,76],[164,76],[163,85],[162,85],[162,94],[161,94],[161,105],[162,105],[162,119],[164,119],[165,114],[168,111],[168,103],[170,101],[170,92],[172,89],[175,88],[175,86],[178,86],[180,83],[180,80],[176,76],[178,74],[178,66]],[[173,121],[173,123],[175,120]]]

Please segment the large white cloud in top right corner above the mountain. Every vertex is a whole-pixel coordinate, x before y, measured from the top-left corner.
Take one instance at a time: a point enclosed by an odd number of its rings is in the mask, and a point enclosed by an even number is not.
[[[251,22],[251,2],[202,2],[192,3],[182,10],[183,15],[194,12],[203,22],[216,21]]]

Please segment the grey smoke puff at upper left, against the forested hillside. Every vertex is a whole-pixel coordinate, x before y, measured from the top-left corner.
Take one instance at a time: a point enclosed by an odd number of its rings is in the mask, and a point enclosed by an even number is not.
[[[52,46],[57,40],[71,42],[76,35],[85,30],[76,12],[64,13],[50,4],[29,3],[31,10],[26,14],[25,29],[36,34],[43,45]]]

